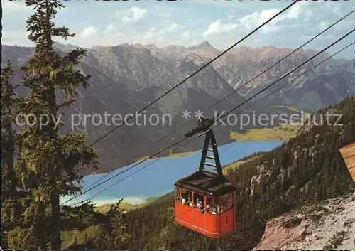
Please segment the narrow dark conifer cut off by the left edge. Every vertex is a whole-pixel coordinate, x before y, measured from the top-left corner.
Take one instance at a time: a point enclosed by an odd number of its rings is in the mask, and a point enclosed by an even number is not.
[[[16,132],[13,112],[16,86],[9,81],[13,68],[9,60],[1,73],[1,247],[6,247],[6,232],[14,228],[18,218],[18,191],[16,173],[13,169]]]

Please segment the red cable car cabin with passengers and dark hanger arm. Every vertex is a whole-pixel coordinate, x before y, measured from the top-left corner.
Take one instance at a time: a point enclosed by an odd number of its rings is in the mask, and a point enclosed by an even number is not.
[[[217,171],[204,166],[214,166]],[[236,230],[236,188],[222,173],[212,130],[206,132],[199,169],[176,181],[175,191],[175,222],[179,225],[211,238]]]

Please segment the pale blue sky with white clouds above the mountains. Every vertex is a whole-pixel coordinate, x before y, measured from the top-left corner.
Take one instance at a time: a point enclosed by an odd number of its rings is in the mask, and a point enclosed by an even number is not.
[[[223,50],[260,26],[285,8],[291,1],[63,1],[58,10],[57,26],[76,33],[70,43],[83,48],[116,46],[121,43],[197,46],[208,41]],[[1,1],[5,45],[33,46],[26,33],[26,20],[33,10],[24,1]],[[324,28],[355,9],[355,1],[300,1],[254,33],[240,45],[297,48]],[[354,29],[355,14],[338,23],[305,48],[322,50],[345,33]],[[329,53],[344,48],[352,41],[352,33]],[[352,59],[351,46],[340,56]]]

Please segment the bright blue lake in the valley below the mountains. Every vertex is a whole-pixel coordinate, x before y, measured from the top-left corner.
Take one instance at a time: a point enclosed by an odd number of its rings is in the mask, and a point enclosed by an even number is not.
[[[237,141],[224,146],[219,146],[219,158],[222,166],[224,166],[258,151],[270,151],[280,146],[282,143],[283,142],[281,141]],[[165,193],[173,191],[176,180],[188,176],[197,170],[200,164],[200,158],[201,151],[197,151],[194,154],[185,157],[162,158],[158,161],[155,159],[149,159],[65,204],[72,205],[91,198],[95,194],[124,178],[124,180],[89,200],[97,203],[97,205],[114,203],[121,198],[124,198],[124,201],[132,204],[144,203],[147,198],[162,196]],[[148,166],[146,166],[147,164]],[[134,164],[131,164],[130,166],[133,165]],[[113,171],[102,181],[111,178],[121,171],[129,169],[130,166]],[[143,166],[146,167],[141,169]],[[141,169],[141,171],[138,171],[138,169]],[[134,174],[131,175],[132,173]],[[84,181],[82,182],[83,189],[89,187],[92,183],[99,180],[99,178],[106,175],[107,173],[84,176]],[[127,176],[129,176],[129,178],[126,178]],[[99,183],[102,181],[99,181]],[[60,201],[67,201],[68,198],[70,197],[61,198]]]

